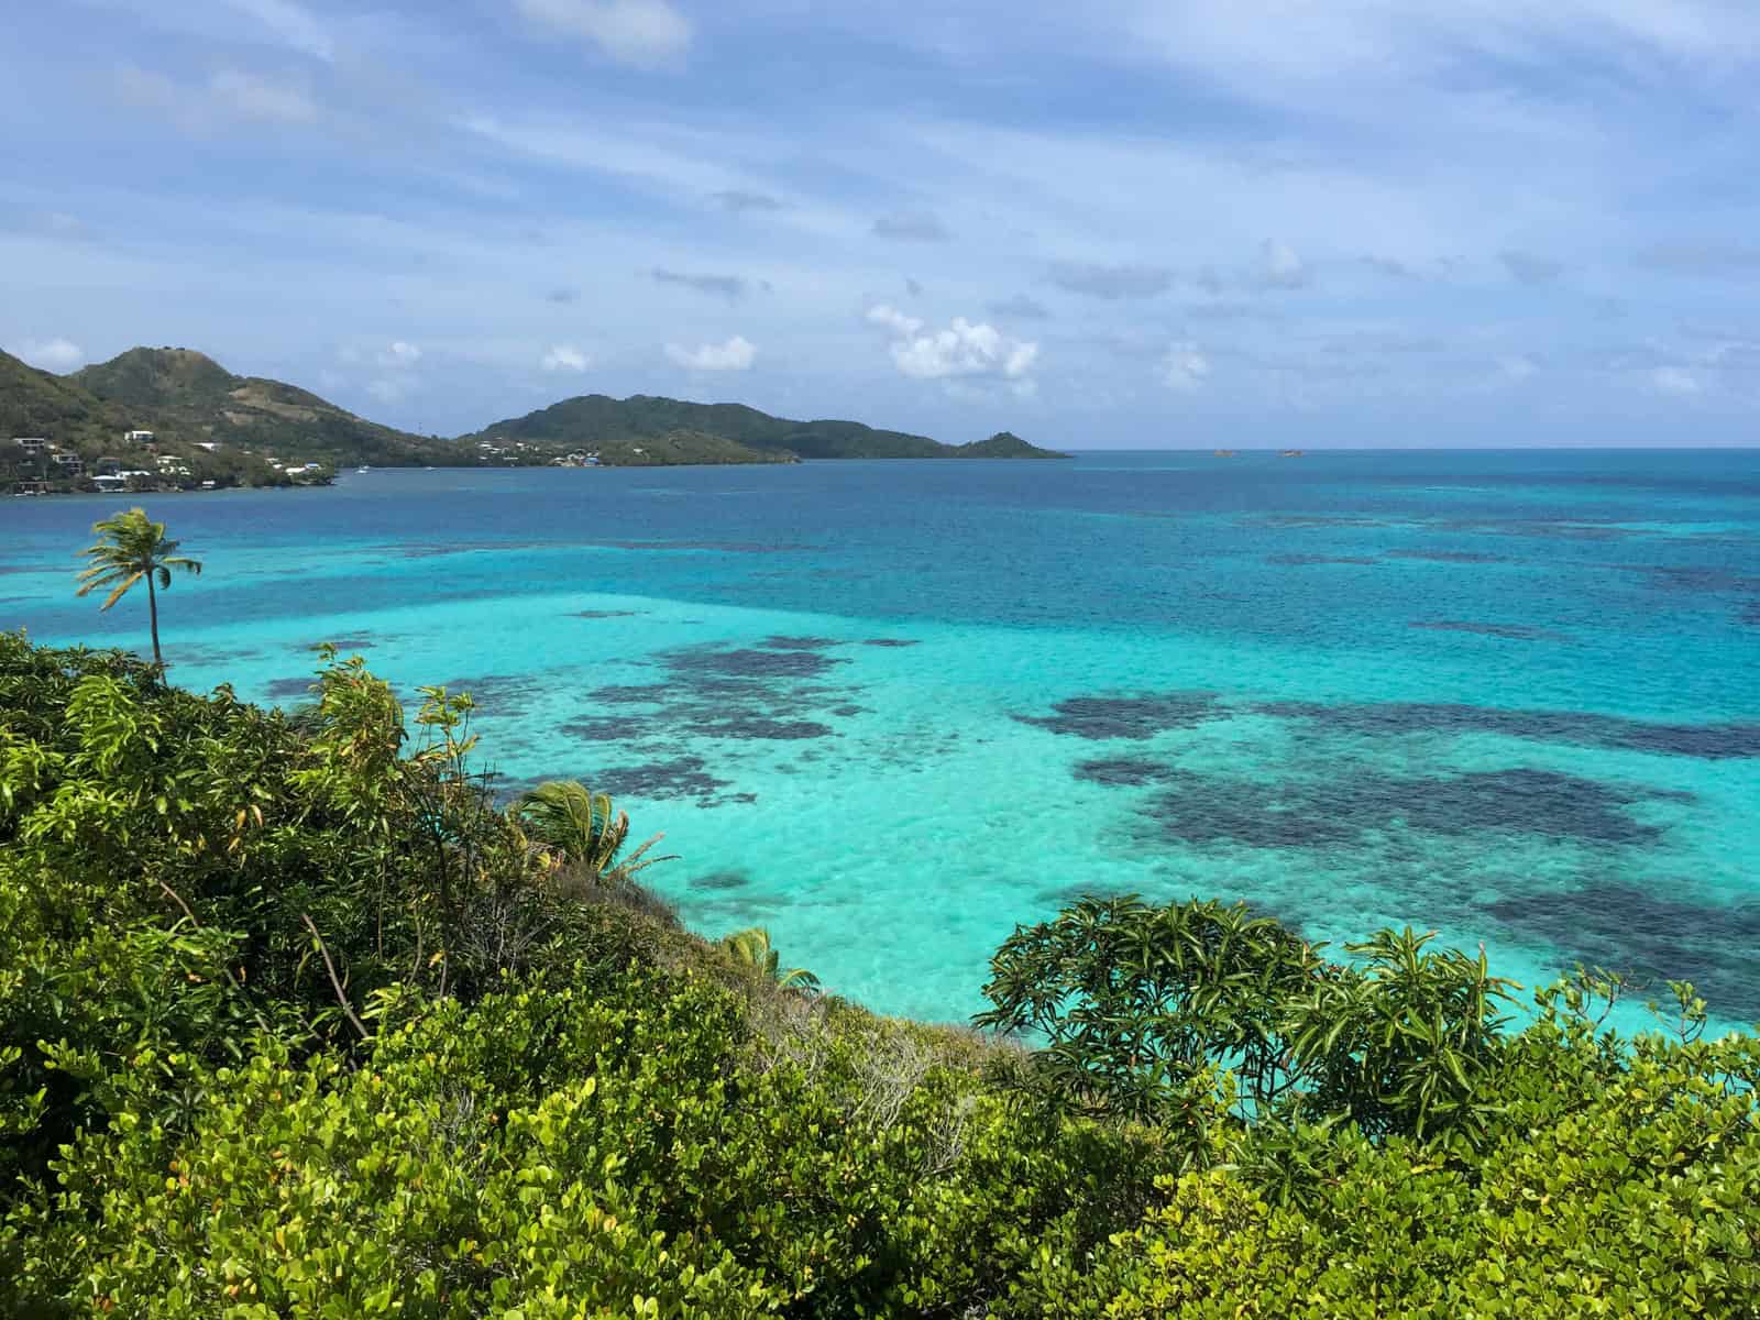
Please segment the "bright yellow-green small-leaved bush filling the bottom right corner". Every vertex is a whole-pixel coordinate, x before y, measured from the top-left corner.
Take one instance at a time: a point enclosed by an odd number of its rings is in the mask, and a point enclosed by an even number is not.
[[[1047,1264],[1021,1313],[1760,1315],[1756,1067],[1751,1038],[1653,1040],[1579,1112],[1512,1114],[1471,1167],[1336,1133],[1301,1204],[1186,1176],[1093,1267]]]

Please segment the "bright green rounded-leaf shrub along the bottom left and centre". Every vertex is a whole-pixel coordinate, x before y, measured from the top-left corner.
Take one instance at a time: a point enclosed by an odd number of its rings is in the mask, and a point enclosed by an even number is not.
[[[125,1100],[72,1142],[7,1227],[19,1297],[151,1316],[637,1297],[959,1313],[1044,1243],[1126,1228],[1169,1169],[1149,1132],[1023,1125],[933,1052],[889,1089],[875,1058],[913,1028],[820,1028],[811,1067],[760,1056],[734,994],[649,972],[424,1007],[359,1070],[259,1042],[192,1072],[188,1121]]]

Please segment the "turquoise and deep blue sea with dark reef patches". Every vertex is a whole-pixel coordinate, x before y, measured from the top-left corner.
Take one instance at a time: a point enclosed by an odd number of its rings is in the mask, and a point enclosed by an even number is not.
[[[7,500],[0,625],[116,498]],[[470,688],[509,787],[612,790],[708,935],[887,1012],[982,1007],[1084,891],[1316,938],[1691,977],[1760,1019],[1760,452],[373,472],[158,496],[172,676],[297,700],[313,642]]]

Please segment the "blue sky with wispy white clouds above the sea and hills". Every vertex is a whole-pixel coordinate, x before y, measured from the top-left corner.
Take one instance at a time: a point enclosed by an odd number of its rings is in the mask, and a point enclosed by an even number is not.
[[[1755,444],[1753,0],[56,0],[0,345],[458,433]]]

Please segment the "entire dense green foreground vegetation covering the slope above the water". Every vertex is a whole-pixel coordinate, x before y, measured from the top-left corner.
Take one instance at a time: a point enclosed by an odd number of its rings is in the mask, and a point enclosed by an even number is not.
[[[1003,1035],[887,1021],[602,796],[500,810],[470,716],[0,635],[0,1309],[1760,1315],[1760,1045],[1686,986],[1621,1038],[1614,977],[1510,1021],[1412,933],[1086,899]]]

